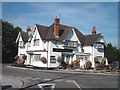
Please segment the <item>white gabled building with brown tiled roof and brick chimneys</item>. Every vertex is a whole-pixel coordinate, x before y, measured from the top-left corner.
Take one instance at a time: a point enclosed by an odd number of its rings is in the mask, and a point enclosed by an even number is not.
[[[106,46],[103,35],[97,34],[95,27],[92,34],[83,35],[75,27],[60,24],[57,17],[49,27],[35,24],[31,30],[28,26],[27,32],[19,32],[16,42],[18,55],[27,55],[26,65],[46,68],[59,66],[59,56],[69,64],[79,60],[80,67],[84,67],[85,62],[90,60],[92,67],[95,67],[94,58],[101,61]],[[47,63],[43,63],[41,57],[45,57]]]

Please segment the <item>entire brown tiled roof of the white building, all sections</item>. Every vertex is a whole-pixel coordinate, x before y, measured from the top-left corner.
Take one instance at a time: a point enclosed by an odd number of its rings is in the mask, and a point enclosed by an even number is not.
[[[43,40],[63,41],[67,37],[70,30],[72,30],[72,28],[74,28],[74,27],[71,27],[71,26],[60,24],[60,27],[59,27],[60,28],[60,31],[59,31],[60,35],[59,35],[59,38],[56,38],[55,35],[54,35],[54,23],[49,27],[43,26],[43,25],[38,25],[38,24],[35,24],[35,25],[37,26],[38,32],[39,32],[39,34],[40,34],[40,36]],[[100,33],[99,34],[91,34],[91,35],[83,35],[76,28],[74,28],[74,31],[75,31],[79,41],[84,45],[94,44],[97,41],[98,37],[101,35]],[[22,38],[23,38],[24,42],[26,43],[27,40],[28,40],[27,32],[21,31],[21,35],[22,35]]]

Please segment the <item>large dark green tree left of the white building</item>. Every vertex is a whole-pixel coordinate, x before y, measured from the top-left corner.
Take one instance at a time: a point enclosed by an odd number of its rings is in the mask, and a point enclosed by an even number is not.
[[[2,20],[2,62],[14,62],[17,54],[15,40],[21,28]]]

